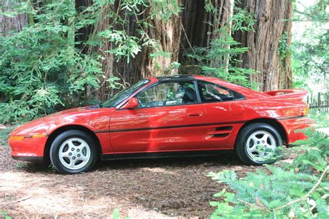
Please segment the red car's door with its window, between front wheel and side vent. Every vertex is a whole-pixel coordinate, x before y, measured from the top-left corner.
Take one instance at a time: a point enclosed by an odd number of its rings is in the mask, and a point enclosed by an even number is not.
[[[117,109],[110,119],[115,152],[197,150],[205,109],[193,80],[159,82],[135,96],[139,107]]]

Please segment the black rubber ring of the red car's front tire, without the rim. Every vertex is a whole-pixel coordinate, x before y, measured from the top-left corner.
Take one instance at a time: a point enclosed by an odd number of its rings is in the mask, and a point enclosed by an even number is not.
[[[67,139],[71,139],[71,138],[83,139],[83,141],[87,142],[88,146],[90,147],[89,161],[87,162],[87,164],[85,164],[85,166],[83,166],[82,168],[78,168],[76,170],[71,170],[71,169],[65,167],[61,163],[59,155],[58,155],[60,146],[62,145],[62,143],[67,141]],[[78,130],[69,130],[67,132],[63,132],[62,134],[59,134],[58,137],[56,137],[56,139],[53,141],[53,143],[51,143],[51,150],[50,150],[51,163],[53,164],[53,166],[55,166],[56,170],[58,170],[58,172],[60,172],[60,173],[74,174],[74,173],[87,172],[96,163],[96,158],[97,157],[96,157],[95,143],[94,143],[92,137],[90,137],[90,135],[85,132],[78,131]]]

